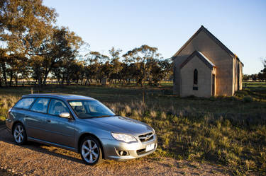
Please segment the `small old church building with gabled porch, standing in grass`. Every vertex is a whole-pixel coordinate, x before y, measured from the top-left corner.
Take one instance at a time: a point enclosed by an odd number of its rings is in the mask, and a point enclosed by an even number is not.
[[[232,96],[242,89],[243,63],[203,25],[172,59],[174,95]]]

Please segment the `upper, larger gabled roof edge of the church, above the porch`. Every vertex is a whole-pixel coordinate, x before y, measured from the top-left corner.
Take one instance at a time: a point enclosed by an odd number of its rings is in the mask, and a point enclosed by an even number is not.
[[[187,42],[185,42],[185,44],[174,54],[173,57],[176,57],[180,52],[182,52],[182,50],[185,47],[187,47],[187,45],[189,45],[189,43],[192,42],[194,37],[196,37],[196,35],[198,35],[201,31],[206,33],[206,35],[209,35],[209,37],[211,37],[211,39],[214,40],[214,42],[216,42],[216,44],[219,45],[224,51],[226,51],[232,58],[236,58],[236,59],[238,59],[238,61],[240,61],[240,59],[235,54],[233,54],[233,52],[231,52],[231,50],[228,49],[228,47],[226,47],[226,45],[223,45],[223,43],[220,40],[218,40],[218,38],[216,38],[211,32],[209,32],[209,30],[204,28],[203,25],[201,25],[201,28],[199,28],[199,30],[197,30],[196,33],[194,33],[194,35],[192,35],[192,37],[190,37],[189,40],[187,40]],[[240,61],[240,63],[243,64],[241,61]],[[244,64],[243,64],[243,66],[244,66]]]

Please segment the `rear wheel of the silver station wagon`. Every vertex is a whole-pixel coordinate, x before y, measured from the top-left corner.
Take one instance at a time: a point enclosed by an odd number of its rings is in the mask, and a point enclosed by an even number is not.
[[[23,124],[18,123],[13,127],[13,138],[18,145],[23,145],[27,141],[26,130],[23,127]]]

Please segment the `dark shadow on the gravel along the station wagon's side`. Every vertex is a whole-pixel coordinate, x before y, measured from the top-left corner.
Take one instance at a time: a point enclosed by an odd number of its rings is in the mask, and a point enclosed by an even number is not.
[[[0,141],[3,141],[5,143],[10,143],[10,144],[13,144],[13,145],[18,146],[15,143],[15,141],[13,140],[13,136],[4,127],[0,127]],[[45,145],[45,144],[37,143],[37,142],[33,142],[33,141],[27,141],[26,144],[24,144],[24,145],[22,145],[20,147],[22,147],[22,148],[28,148],[28,149],[30,149],[32,151],[38,151],[40,153],[45,153],[45,154],[48,154],[50,156],[56,156],[56,157],[59,157],[59,158],[63,158],[63,159],[67,159],[67,160],[72,160],[74,162],[84,164],[81,158],[75,158],[73,156],[67,155],[67,153],[74,153],[74,152],[67,151],[67,150],[62,149],[62,148],[57,148],[57,147],[52,146],[52,151],[50,151],[48,149],[48,148],[50,148],[49,145]],[[57,153],[55,151],[64,151],[64,154]],[[86,164],[84,164],[84,165],[86,165]]]

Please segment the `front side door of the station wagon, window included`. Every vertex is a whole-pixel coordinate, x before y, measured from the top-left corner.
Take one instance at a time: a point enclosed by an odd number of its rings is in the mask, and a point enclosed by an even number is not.
[[[70,113],[65,102],[52,99],[45,124],[45,129],[48,132],[46,140],[63,146],[74,147],[75,120],[60,117],[59,115],[62,112]]]

